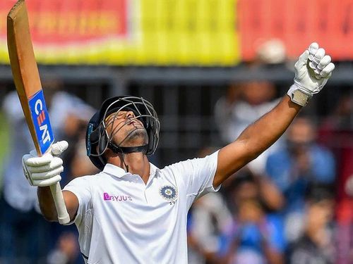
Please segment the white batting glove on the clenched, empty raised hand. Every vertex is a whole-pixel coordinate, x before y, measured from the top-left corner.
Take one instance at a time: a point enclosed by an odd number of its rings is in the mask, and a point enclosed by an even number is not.
[[[319,49],[313,42],[295,63],[294,84],[287,94],[294,103],[306,106],[313,94],[323,89],[334,69],[335,65],[331,63],[331,57],[325,55],[325,49]]]

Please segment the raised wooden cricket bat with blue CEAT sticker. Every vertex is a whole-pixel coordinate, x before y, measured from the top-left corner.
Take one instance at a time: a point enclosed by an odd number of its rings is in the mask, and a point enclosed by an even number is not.
[[[50,152],[54,142],[52,127],[45,106],[40,75],[30,37],[25,0],[19,0],[7,16],[7,45],[13,80],[16,85],[25,120],[39,156]],[[50,186],[58,220],[70,221],[59,182]]]

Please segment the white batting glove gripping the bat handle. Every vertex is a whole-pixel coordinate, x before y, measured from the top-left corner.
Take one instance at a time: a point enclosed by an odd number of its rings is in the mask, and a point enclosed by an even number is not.
[[[68,148],[68,142],[61,141],[52,144],[51,152],[37,156],[35,150],[22,158],[22,168],[28,182],[32,186],[46,187],[61,180],[60,173],[64,171],[63,160],[58,156]]]

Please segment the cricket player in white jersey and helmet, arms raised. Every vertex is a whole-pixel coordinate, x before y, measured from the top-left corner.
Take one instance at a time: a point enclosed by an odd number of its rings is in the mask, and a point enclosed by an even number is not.
[[[311,44],[295,63],[294,84],[273,110],[210,156],[162,169],[148,161],[160,130],[152,104],[134,96],[104,101],[86,134],[88,156],[102,171],[77,177],[63,191],[85,263],[187,263],[186,215],[193,201],[220,189],[227,177],[273,144],[334,68],[325,50]],[[58,155],[67,146],[57,142],[52,153],[23,156],[25,177],[38,187],[49,221],[57,221],[49,186],[61,180]]]

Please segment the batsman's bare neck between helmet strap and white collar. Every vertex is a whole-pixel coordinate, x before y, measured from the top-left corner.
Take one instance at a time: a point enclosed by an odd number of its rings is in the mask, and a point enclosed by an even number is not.
[[[107,162],[116,165],[124,170],[140,175],[145,184],[150,177],[150,163],[147,156],[141,152],[125,153],[124,160],[122,154],[111,154],[107,158]],[[127,168],[126,168],[127,167]]]

